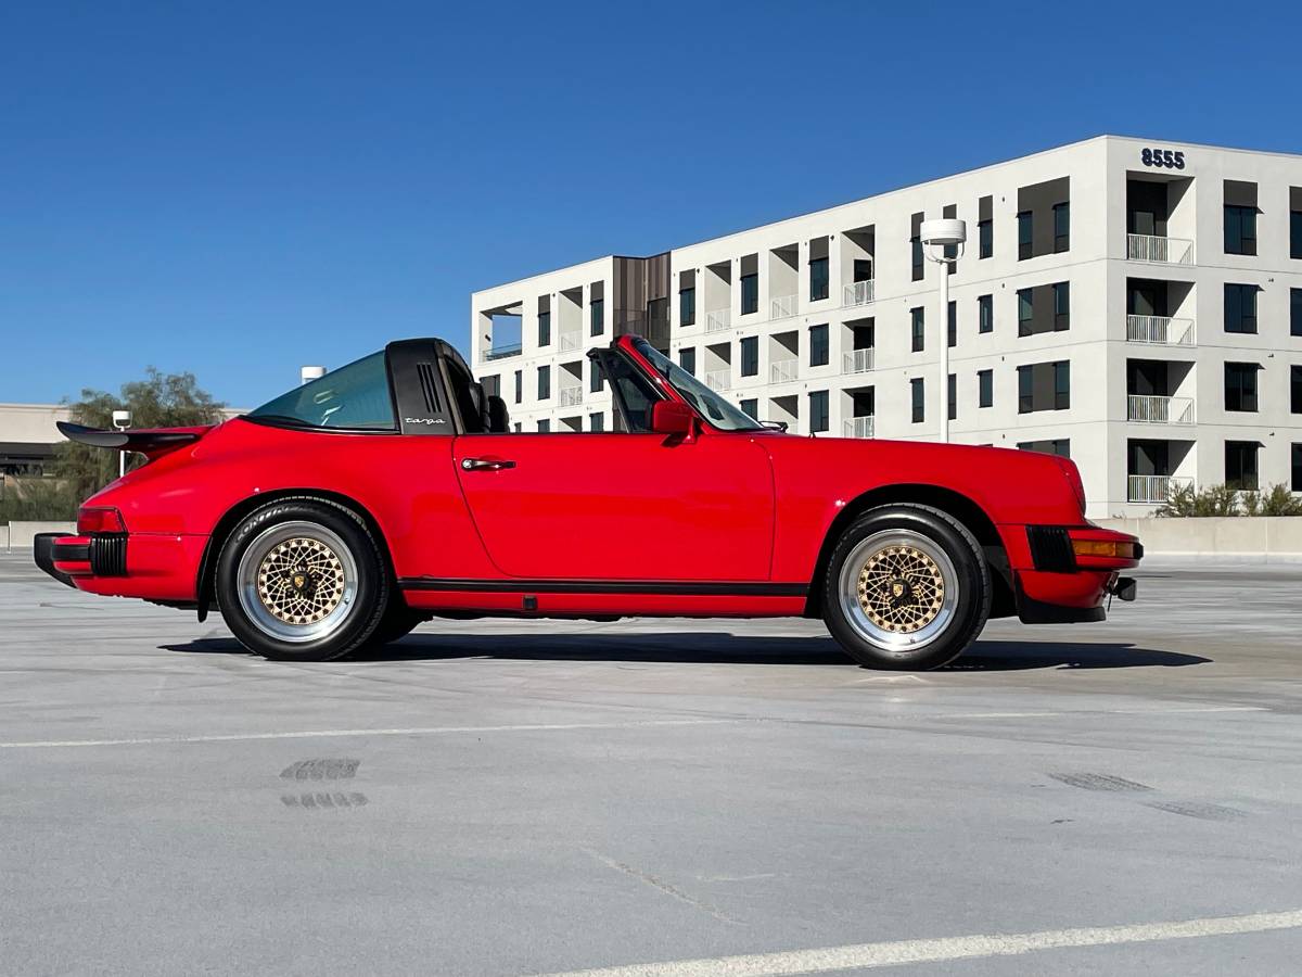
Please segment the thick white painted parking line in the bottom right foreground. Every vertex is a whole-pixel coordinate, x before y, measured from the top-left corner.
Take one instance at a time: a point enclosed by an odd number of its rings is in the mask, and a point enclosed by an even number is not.
[[[784,977],[801,973],[827,973],[900,964],[970,960],[983,956],[1016,956],[1040,950],[1099,947],[1115,943],[1152,943],[1165,939],[1225,937],[1238,933],[1297,929],[1302,909],[1249,916],[1213,916],[1181,922],[1143,922],[1129,926],[1099,926],[1042,933],[1008,933],[941,939],[904,939],[889,943],[857,943],[818,950],[779,954],[716,956],[700,960],[672,960],[659,964],[599,967],[566,970],[546,977]]]

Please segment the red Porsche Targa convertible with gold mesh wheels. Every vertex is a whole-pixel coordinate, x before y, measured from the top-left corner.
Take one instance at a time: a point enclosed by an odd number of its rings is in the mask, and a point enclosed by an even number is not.
[[[1085,518],[1049,455],[803,438],[644,340],[589,353],[612,432],[510,432],[418,339],[215,427],[74,440],[148,462],[36,563],[79,590],[221,610],[268,658],[323,660],[431,617],[823,617],[855,660],[932,668],[992,616],[1095,621],[1134,537]]]

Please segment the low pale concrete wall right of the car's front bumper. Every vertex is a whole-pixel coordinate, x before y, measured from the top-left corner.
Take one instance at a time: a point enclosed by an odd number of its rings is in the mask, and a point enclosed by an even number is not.
[[[1216,556],[1263,563],[1302,561],[1302,517],[1298,516],[1094,521],[1139,537],[1147,555]]]

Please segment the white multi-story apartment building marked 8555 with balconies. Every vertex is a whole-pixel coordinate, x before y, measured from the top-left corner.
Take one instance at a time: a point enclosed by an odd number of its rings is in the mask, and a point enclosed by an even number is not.
[[[941,216],[969,228],[944,311]],[[947,409],[954,442],[1069,455],[1095,516],[1302,491],[1302,156],[1103,135],[471,296],[519,431],[609,430],[585,352],[624,332],[801,434],[931,439]]]

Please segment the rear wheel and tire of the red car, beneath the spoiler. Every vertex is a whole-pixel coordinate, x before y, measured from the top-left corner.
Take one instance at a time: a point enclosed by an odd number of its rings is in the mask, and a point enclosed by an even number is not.
[[[289,538],[277,543],[280,535]],[[306,550],[301,541],[327,552]],[[277,568],[263,576],[268,565],[276,565],[268,560],[281,559],[272,554],[277,546],[290,547],[285,550],[289,554],[285,559],[298,559],[294,554],[307,552],[303,559],[319,559],[326,569],[299,574]],[[337,578],[332,576],[332,567],[337,567]],[[215,574],[214,589],[227,627],[241,645],[273,660],[342,658],[370,641],[389,603],[389,572],[380,543],[357,513],[326,499],[283,499],[246,516],[221,547]],[[320,590],[316,589],[318,577],[324,577]],[[309,589],[290,593],[289,584],[276,584],[289,595],[263,598],[259,595],[262,581],[268,578],[298,582],[302,578],[309,581]],[[286,608],[301,607],[303,602],[293,603],[298,595],[307,602],[316,599],[316,608],[307,608],[310,614],[327,606],[332,610],[320,620],[305,617],[299,621],[293,615],[281,619],[279,615],[288,614]]]

